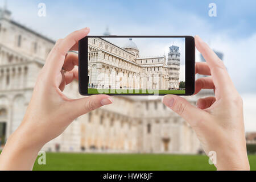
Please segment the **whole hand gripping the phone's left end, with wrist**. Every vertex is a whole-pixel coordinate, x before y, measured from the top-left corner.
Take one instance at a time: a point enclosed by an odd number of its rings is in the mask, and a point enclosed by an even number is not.
[[[45,143],[59,136],[82,114],[112,104],[110,96],[94,95],[73,100],[62,91],[78,79],[75,65],[78,57],[69,50],[78,50],[78,41],[89,28],[72,32],[60,39],[49,53],[40,71],[26,114],[18,129],[9,137],[0,156],[0,169],[32,169],[38,152]],[[63,72],[62,68],[67,72]]]

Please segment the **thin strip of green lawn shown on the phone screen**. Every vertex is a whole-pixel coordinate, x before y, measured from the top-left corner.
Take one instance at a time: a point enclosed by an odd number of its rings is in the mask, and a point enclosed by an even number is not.
[[[92,89],[88,88],[88,94],[185,94],[185,90],[139,90],[139,89]]]

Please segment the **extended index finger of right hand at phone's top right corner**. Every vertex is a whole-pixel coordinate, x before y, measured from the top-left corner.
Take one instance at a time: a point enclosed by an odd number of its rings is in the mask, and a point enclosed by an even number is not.
[[[219,93],[218,96],[230,96],[230,93],[234,92],[236,89],[234,88],[233,82],[226,71],[224,63],[197,35],[195,36],[195,44],[196,48],[201,52],[209,65],[210,75],[212,75],[216,92]]]

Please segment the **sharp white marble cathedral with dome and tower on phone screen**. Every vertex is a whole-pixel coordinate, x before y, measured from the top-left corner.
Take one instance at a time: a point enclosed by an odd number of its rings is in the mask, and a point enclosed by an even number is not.
[[[139,55],[132,38],[122,48],[103,38],[88,38],[89,88],[179,89],[179,47],[170,47],[167,62],[165,55]]]

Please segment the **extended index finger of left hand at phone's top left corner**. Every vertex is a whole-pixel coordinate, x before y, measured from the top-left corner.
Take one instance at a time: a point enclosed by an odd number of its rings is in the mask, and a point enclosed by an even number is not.
[[[46,61],[49,75],[57,75],[64,64],[67,52],[89,33],[89,28],[83,28],[69,34],[66,38],[57,41]]]

